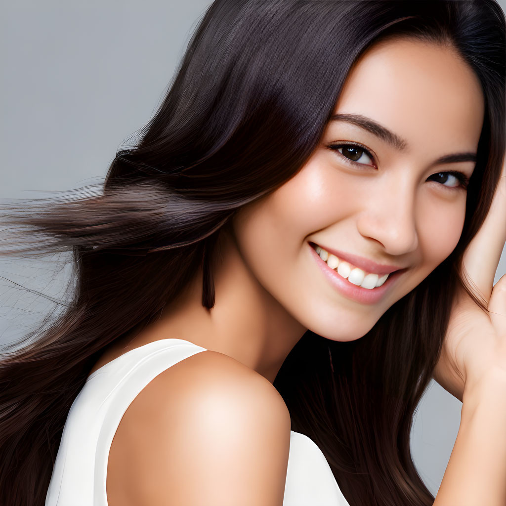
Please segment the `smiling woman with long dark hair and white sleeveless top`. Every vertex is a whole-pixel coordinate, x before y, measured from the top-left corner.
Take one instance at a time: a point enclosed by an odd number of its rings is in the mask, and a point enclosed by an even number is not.
[[[214,2],[103,192],[6,210],[76,286],[0,362],[0,503],[433,504],[434,376],[434,504],[503,504],[504,37],[494,0]]]

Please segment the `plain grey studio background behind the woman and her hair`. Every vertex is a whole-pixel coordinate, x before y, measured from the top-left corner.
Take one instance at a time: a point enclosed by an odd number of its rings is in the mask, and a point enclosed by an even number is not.
[[[102,181],[118,147],[156,110],[209,4],[3,0],[0,198],[48,196]],[[500,4],[504,10],[506,0]],[[23,335],[47,311],[48,301],[34,291],[63,296],[67,270],[54,261],[0,262],[0,343]],[[506,250],[494,282],[504,273]],[[415,413],[413,459],[434,494],[461,406],[433,381]]]

